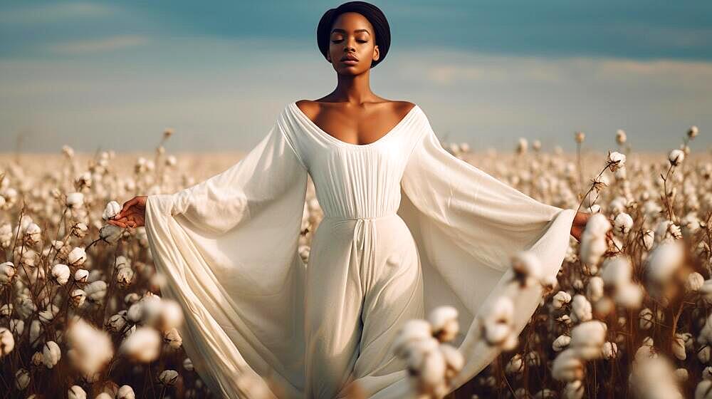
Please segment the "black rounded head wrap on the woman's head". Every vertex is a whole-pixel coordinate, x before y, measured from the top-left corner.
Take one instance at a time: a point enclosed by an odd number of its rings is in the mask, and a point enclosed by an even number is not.
[[[373,4],[365,1],[349,1],[341,4],[335,9],[329,9],[324,13],[316,28],[316,41],[319,45],[319,50],[326,58],[329,52],[329,38],[331,28],[336,20],[336,17],[345,12],[357,12],[371,23],[376,35],[376,45],[379,49],[379,58],[377,61],[371,61],[371,68],[377,66],[388,53],[388,47],[391,44],[391,28],[388,26],[386,16],[381,9]]]

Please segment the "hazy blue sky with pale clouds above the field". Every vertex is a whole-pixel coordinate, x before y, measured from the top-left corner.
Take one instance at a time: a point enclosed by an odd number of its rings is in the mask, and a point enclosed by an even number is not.
[[[372,90],[475,149],[712,144],[712,2],[372,1],[392,30]],[[0,3],[0,151],[248,150],[335,72],[315,28],[340,1]]]

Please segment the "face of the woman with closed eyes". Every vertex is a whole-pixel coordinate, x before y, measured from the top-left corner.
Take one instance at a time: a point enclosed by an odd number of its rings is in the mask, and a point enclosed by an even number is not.
[[[329,36],[327,58],[337,73],[359,75],[371,68],[379,57],[373,26],[365,16],[347,12],[336,17]],[[357,61],[347,61],[346,56]]]

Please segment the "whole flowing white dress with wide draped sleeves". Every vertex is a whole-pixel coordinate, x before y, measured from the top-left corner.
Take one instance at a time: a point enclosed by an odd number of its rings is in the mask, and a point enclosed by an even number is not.
[[[298,254],[307,177],[325,218],[307,266]],[[555,276],[575,209],[543,204],[441,147],[416,105],[382,138],[343,142],[286,105],[229,169],[174,194],[150,195],[146,229],[163,296],[182,304],[187,355],[211,391],[246,398],[240,373],[285,398],[404,398],[390,348],[404,321],[459,309],[459,387],[497,352],[479,309],[511,296],[516,331],[541,299],[513,291],[510,257],[534,251]]]

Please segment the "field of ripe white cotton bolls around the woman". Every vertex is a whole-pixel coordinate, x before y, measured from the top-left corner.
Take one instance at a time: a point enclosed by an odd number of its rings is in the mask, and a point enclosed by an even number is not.
[[[506,153],[443,143],[541,202],[592,213],[557,281],[540,279],[526,252],[511,259],[511,284],[540,284],[545,296],[519,336],[511,301],[483,309],[481,338],[501,355],[450,398],[712,398],[712,157],[698,134],[681,130],[659,154],[636,152],[623,130],[606,153],[585,150],[582,132],[572,153],[526,138]],[[181,308],[162,299],[144,227],[107,223],[135,195],[175,192],[235,162],[168,154],[173,135],[144,156],[68,146],[0,156],[2,398],[211,396],[182,348]],[[304,261],[322,217],[311,183],[307,196]],[[444,304],[394,343],[414,398],[442,398],[464,364],[468,353],[449,343],[464,328],[456,319]],[[251,398],[270,397],[263,381],[236,378]]]

